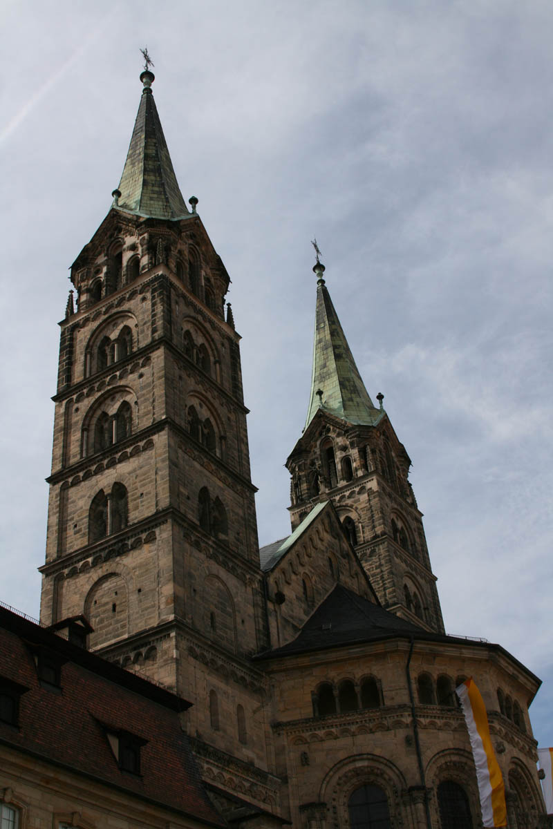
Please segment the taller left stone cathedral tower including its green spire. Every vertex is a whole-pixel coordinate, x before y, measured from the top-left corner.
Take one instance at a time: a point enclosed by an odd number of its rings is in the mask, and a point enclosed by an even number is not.
[[[113,204],[71,267],[41,621],[85,614],[91,648],[205,701],[189,720],[200,754],[208,732],[215,766],[217,749],[263,768],[263,681],[247,657],[266,647],[266,625],[240,336],[225,266],[177,184],[153,73],[140,79]]]

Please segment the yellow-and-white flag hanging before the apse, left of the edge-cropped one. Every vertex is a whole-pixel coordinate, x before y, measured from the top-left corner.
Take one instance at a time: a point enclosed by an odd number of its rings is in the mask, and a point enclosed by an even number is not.
[[[458,686],[455,692],[461,701],[468,737],[473,749],[483,825],[484,827],[505,827],[507,826],[505,783],[503,783],[501,768],[493,751],[486,706],[472,676]]]

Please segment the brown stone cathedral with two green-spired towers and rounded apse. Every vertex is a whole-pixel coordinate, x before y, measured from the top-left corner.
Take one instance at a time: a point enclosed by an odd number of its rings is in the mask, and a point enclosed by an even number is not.
[[[41,622],[192,701],[235,825],[478,827],[454,686],[488,709],[512,825],[545,819],[527,708],[540,681],[450,637],[408,480],[319,261],[313,383],[290,454],[292,534],[259,550],[229,276],[143,95],[114,202],[61,322]]]

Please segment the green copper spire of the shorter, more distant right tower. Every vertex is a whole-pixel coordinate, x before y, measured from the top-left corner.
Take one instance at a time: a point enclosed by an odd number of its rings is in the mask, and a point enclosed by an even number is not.
[[[348,423],[370,426],[376,423],[381,412],[373,405],[357,371],[323,279],[324,265],[319,262],[318,256],[313,271],[318,276],[317,312],[311,399],[305,428],[319,409]]]

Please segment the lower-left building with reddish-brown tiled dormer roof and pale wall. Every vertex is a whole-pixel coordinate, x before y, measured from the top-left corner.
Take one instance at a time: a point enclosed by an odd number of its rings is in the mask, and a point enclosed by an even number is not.
[[[182,730],[190,703],[0,607],[0,816],[27,827],[224,827]],[[60,629],[61,628],[61,629]]]

